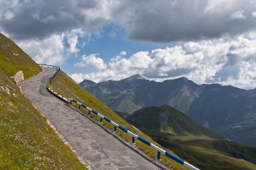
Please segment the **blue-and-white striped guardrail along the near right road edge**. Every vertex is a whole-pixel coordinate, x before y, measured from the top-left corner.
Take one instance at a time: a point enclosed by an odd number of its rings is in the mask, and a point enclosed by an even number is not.
[[[172,159],[173,161],[176,161],[177,163],[184,165],[185,167],[191,169],[191,170],[199,170],[197,167],[194,167],[193,165],[183,161],[182,159],[180,159],[179,157],[176,157],[174,155],[172,155],[171,153],[168,153],[167,151],[164,151],[164,149],[156,146],[155,144],[152,144],[151,142],[149,142],[148,140],[141,138],[140,136],[138,136],[137,134],[134,134],[133,132],[127,130],[126,128],[124,128],[123,126],[117,124],[116,122],[113,122],[112,120],[106,118],[106,116],[103,116],[102,114],[99,114],[98,112],[92,110],[91,108],[89,108],[87,105],[80,103],[79,101],[76,101],[75,99],[68,99],[69,103],[72,104],[73,103],[77,103],[78,104],[78,108],[81,109],[81,107],[85,108],[86,110],[88,110],[88,115],[91,114],[91,112],[93,114],[95,114],[96,116],[100,117],[100,122],[102,122],[103,120],[106,120],[106,122],[113,124],[114,125],[114,132],[117,132],[117,128],[119,128],[120,130],[122,130],[123,132],[131,135],[131,143],[135,144],[135,138],[137,138],[137,140],[143,142],[144,144],[147,144],[148,146],[156,149],[157,151],[157,156],[156,158],[159,160],[160,159],[160,154],[164,154],[166,155],[166,157]]]

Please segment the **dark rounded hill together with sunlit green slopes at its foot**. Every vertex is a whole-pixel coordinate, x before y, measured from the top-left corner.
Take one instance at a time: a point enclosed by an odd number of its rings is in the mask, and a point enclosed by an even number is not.
[[[168,105],[143,108],[127,121],[201,169],[256,168],[256,146],[226,140]]]

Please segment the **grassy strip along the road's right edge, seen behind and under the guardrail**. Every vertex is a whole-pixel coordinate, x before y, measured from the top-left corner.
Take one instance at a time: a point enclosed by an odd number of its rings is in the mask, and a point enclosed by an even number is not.
[[[77,83],[75,83],[70,77],[65,75],[65,73],[63,73],[62,71],[57,74],[57,77],[55,77],[55,79],[53,79],[51,87],[54,89],[54,91],[63,95],[64,97],[77,99],[78,101],[85,103],[86,105],[88,105],[88,107],[92,108],[93,110],[96,110],[100,114],[103,114],[107,118],[110,118],[110,120],[117,122],[118,124],[124,126],[131,132],[134,132],[135,134],[138,134],[139,136],[146,138],[150,142],[156,144],[156,142],[154,142],[149,136],[143,134],[143,132],[131,126],[131,124],[127,123],[125,120],[123,120],[123,118],[115,114],[115,112],[106,107],[104,103],[102,103],[101,101],[96,99],[96,97],[88,93],[88,91],[86,91]],[[91,114],[91,117],[95,118],[96,120],[99,120],[99,118],[94,116],[93,114]],[[104,126],[106,128],[113,129],[113,125],[108,124],[106,122],[104,122]],[[121,136],[125,140],[131,142],[131,136],[125,134],[124,132],[121,132],[121,130],[117,130],[117,134],[119,134],[119,136]],[[139,140],[136,140],[136,143],[137,146],[139,146],[139,148],[141,149],[141,151],[146,153],[149,157],[156,157],[156,151],[153,148],[147,146],[146,144],[141,143]],[[179,165],[174,161],[171,161],[164,155],[162,155],[161,157],[161,162],[168,167],[172,167],[173,169],[185,169],[185,167]]]

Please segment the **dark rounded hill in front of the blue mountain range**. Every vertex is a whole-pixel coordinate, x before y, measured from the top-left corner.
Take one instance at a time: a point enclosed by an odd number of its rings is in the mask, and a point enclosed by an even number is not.
[[[181,136],[196,135],[224,139],[223,136],[201,126],[169,105],[143,108],[131,114],[126,120],[141,129]]]

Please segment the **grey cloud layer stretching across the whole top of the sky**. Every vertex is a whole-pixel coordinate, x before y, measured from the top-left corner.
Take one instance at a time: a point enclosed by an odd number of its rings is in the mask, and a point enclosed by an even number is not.
[[[44,39],[75,28],[100,32],[114,25],[150,42],[203,40],[255,30],[255,0],[115,1],[0,0],[0,27],[15,40]],[[110,31],[115,37],[115,30]]]

